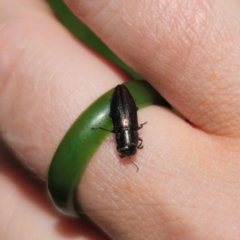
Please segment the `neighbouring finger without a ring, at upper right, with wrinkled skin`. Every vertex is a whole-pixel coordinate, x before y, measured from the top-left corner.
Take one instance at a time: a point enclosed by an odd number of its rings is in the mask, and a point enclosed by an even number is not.
[[[66,2],[189,121],[211,133],[240,134],[235,1]]]

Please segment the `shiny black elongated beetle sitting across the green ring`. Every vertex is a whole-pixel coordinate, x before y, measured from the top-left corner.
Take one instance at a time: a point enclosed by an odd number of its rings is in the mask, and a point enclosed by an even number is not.
[[[112,95],[109,114],[112,119],[113,130],[102,127],[92,128],[115,133],[117,151],[120,153],[120,157],[128,156],[130,158],[130,156],[136,154],[137,148],[143,148],[143,140],[138,136],[138,130],[147,122],[138,125],[137,110],[135,100],[127,87],[117,85]],[[133,161],[132,163],[138,171],[138,166]]]

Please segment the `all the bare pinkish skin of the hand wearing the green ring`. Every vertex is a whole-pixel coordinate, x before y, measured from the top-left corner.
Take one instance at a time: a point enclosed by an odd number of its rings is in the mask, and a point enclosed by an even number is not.
[[[239,3],[67,4],[190,123],[161,107],[139,111],[149,123],[132,158],[139,172],[111,135],[79,185],[102,230],[62,216],[46,193],[53,154],[77,116],[128,76],[44,1],[0,0],[0,239],[240,239]]]

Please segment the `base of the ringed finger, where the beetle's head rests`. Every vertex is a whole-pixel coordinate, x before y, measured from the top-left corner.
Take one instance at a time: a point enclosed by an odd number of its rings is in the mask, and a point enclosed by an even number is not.
[[[235,239],[239,141],[196,131],[157,107],[139,115],[148,120],[144,148],[131,158],[139,171],[120,159],[111,136],[81,180],[84,212],[113,239]]]

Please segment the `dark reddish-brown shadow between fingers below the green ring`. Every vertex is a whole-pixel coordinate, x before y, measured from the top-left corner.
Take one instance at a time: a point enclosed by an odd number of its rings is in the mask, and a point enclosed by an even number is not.
[[[18,190],[41,211],[56,219],[54,229],[66,238],[110,239],[89,219],[71,218],[55,209],[46,189],[46,183],[39,180],[17,160],[11,149],[0,139],[0,175],[12,182]],[[37,217],[37,216],[36,216]],[[47,217],[47,216],[46,216]],[[34,226],[32,226],[34,228]],[[36,226],[39,228],[39,226]],[[44,230],[44,229],[43,229]]]

